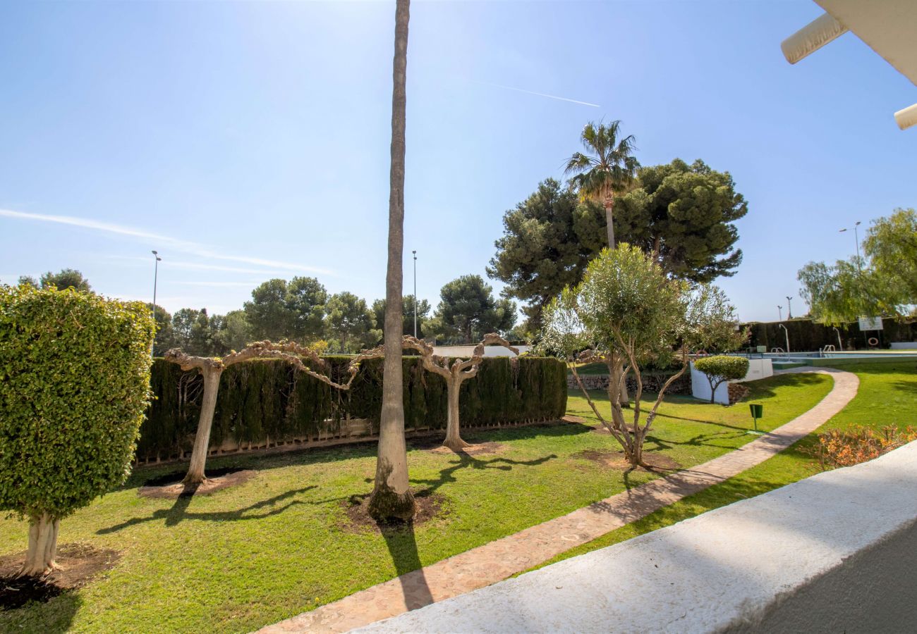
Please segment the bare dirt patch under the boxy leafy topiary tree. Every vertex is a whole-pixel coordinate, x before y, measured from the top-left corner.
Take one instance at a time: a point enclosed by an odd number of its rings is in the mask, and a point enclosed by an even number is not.
[[[106,548],[69,543],[58,548],[58,568],[42,577],[17,576],[26,552],[0,557],[0,611],[12,610],[29,601],[45,602],[67,590],[83,587],[92,578],[115,567],[120,555]]]

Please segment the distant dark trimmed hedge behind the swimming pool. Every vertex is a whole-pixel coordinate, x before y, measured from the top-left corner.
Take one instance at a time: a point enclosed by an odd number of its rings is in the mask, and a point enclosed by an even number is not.
[[[748,345],[754,347],[765,345],[770,352],[771,348],[787,347],[786,334],[779,327],[782,323],[790,332],[790,349],[793,352],[814,352],[825,345],[837,347],[837,333],[831,326],[823,323],[812,322],[810,319],[792,319],[786,322],[751,322],[746,323],[750,332]],[[880,333],[863,333],[857,322],[841,324],[837,329],[841,332],[844,348],[853,344],[856,350],[867,349],[869,337],[877,336],[878,347],[888,348],[893,341],[917,341],[917,322],[900,322],[895,319],[883,319],[883,330]]]

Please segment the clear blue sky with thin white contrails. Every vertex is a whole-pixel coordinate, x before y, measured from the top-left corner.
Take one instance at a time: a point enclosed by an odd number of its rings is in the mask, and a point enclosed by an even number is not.
[[[293,275],[382,297],[393,14],[0,2],[0,280],[78,268],[149,301],[157,248],[170,311],[233,310]],[[838,229],[917,206],[917,130],[892,119],[917,89],[852,34],[790,66],[780,41],[819,14],[810,0],[414,2],[405,292],[412,249],[434,304],[484,275],[503,212],[559,178],[603,117],[645,165],[733,174],[745,261],[720,283],[741,318],[776,319],[803,264],[854,251]]]

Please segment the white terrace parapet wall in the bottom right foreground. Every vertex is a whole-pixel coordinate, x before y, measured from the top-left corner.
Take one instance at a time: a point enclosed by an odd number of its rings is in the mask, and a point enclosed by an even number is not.
[[[912,632],[917,442],[367,632]]]

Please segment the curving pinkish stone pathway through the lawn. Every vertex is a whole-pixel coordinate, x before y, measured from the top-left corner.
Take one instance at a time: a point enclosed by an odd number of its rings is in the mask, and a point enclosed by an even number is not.
[[[260,632],[346,632],[503,581],[759,465],[820,427],[856,396],[859,379],[843,370],[799,367],[774,374],[799,372],[830,374],[834,388],[812,410],[733,452],[373,585]]]

